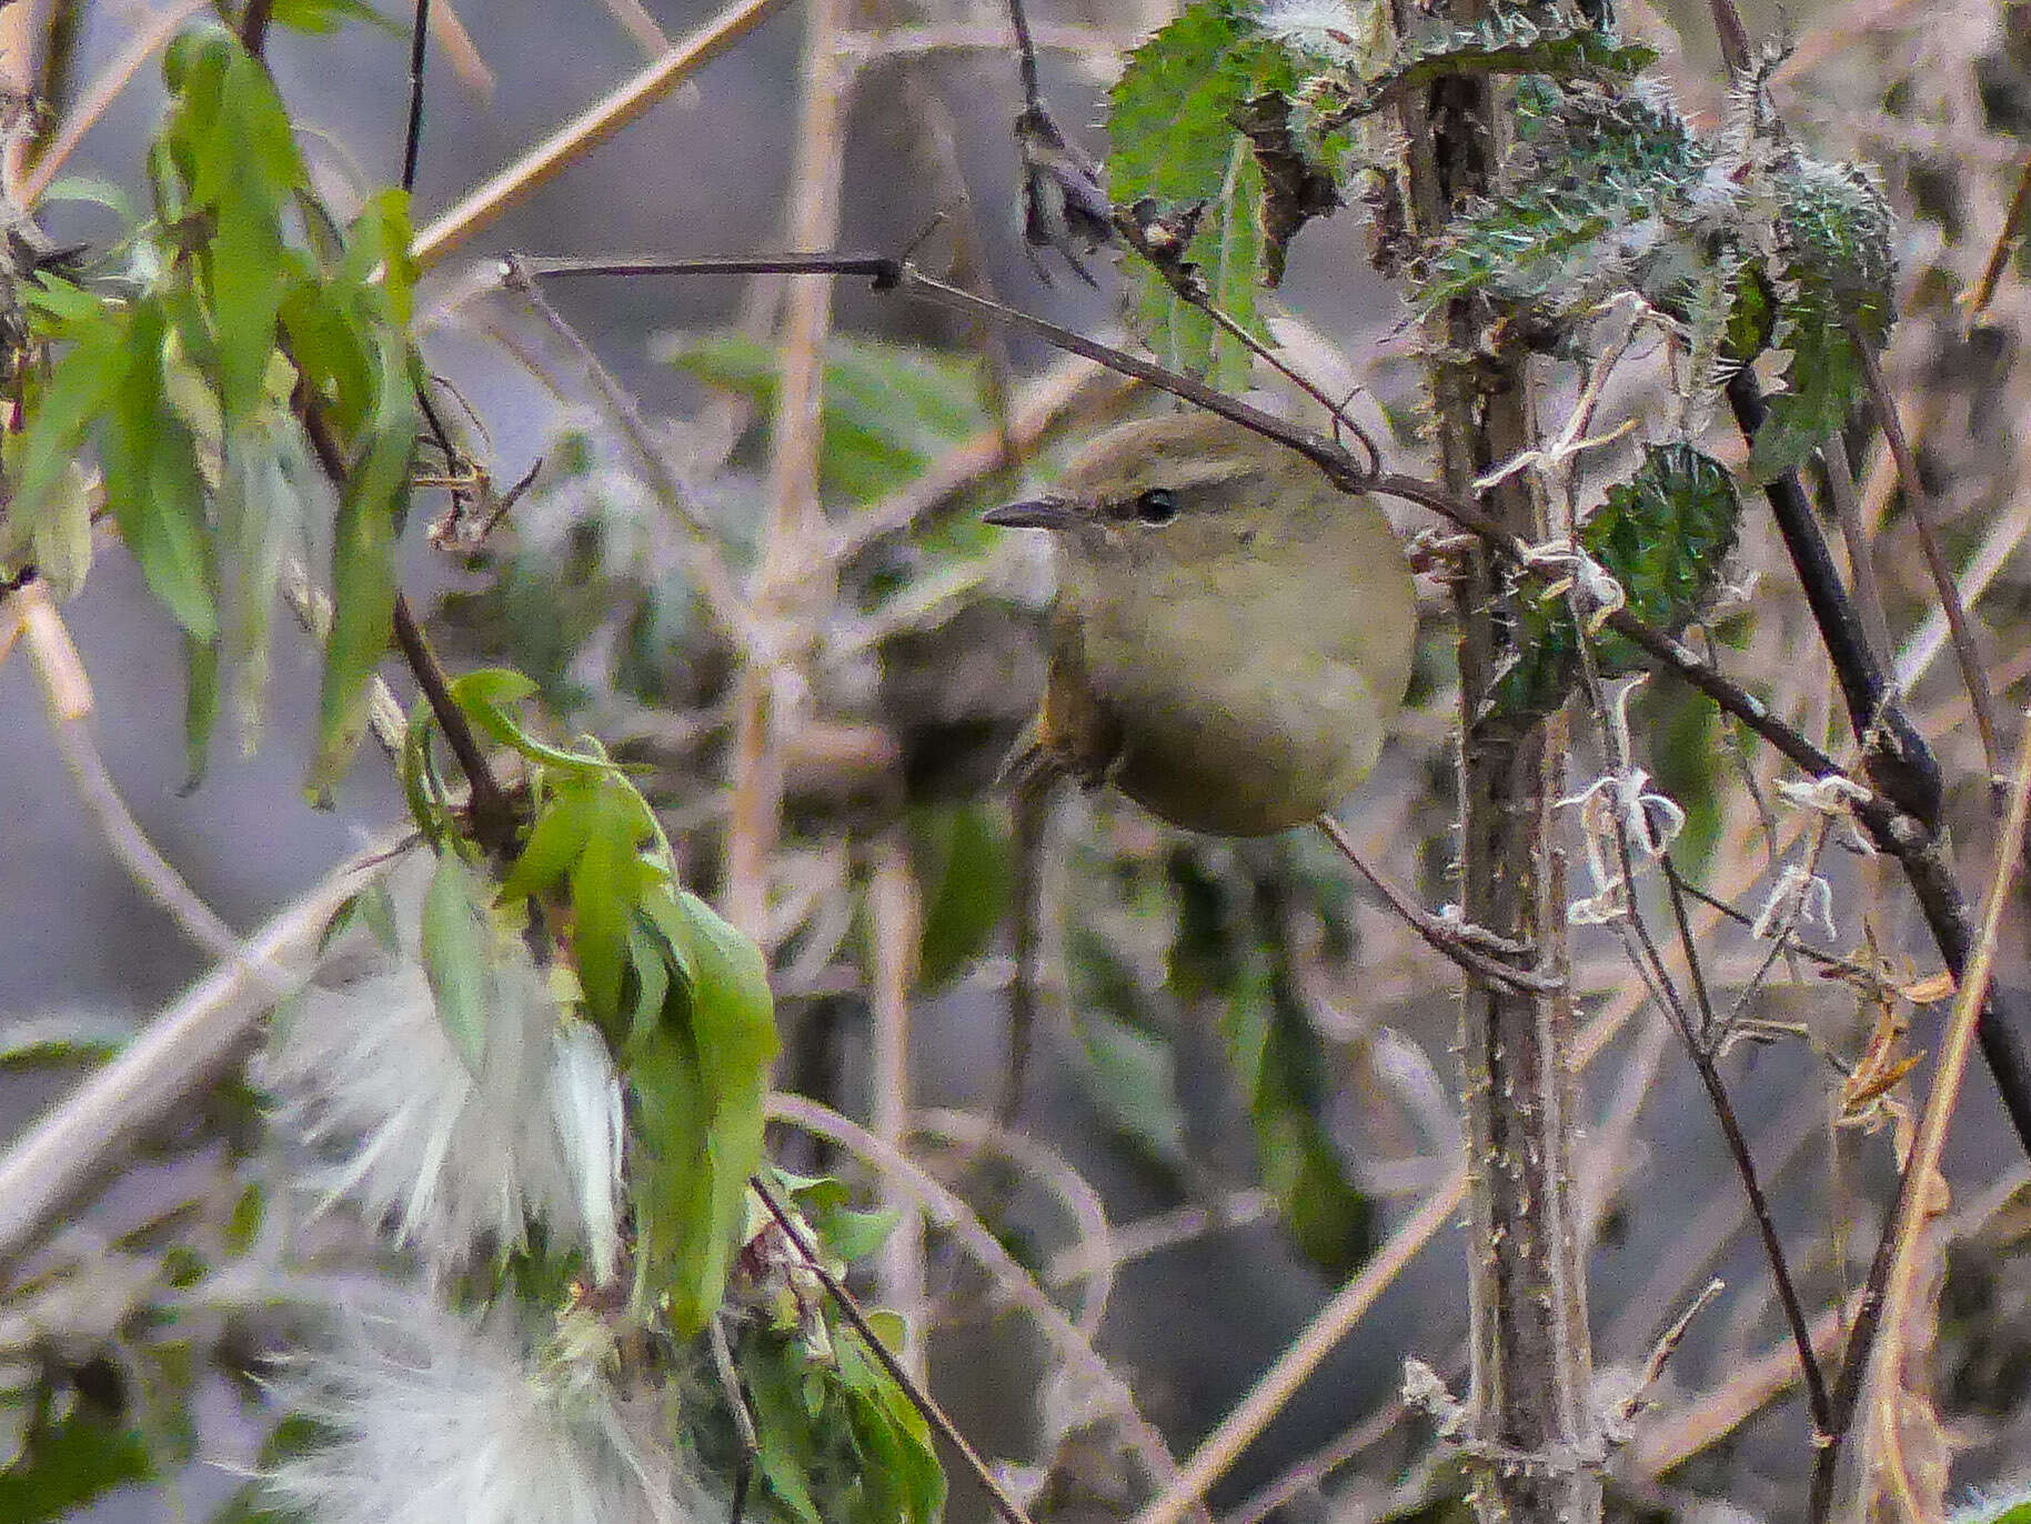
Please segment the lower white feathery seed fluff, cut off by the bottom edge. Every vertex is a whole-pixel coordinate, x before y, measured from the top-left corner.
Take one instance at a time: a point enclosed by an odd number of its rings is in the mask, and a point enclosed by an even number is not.
[[[422,1298],[398,1317],[343,1313],[323,1347],[288,1357],[270,1382],[323,1441],[262,1481],[313,1524],[713,1516],[672,1457],[662,1400],[624,1400],[597,1351],[554,1343],[538,1357],[512,1313],[473,1323]]]

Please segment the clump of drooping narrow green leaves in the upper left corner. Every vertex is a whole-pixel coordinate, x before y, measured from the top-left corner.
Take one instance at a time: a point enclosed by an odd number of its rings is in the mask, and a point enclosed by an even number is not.
[[[394,545],[408,508],[420,370],[408,341],[408,201],[386,191],[343,232],[315,203],[294,130],[232,33],[183,33],[162,61],[169,112],[148,152],[156,215],[124,276],[26,295],[57,352],[8,437],[18,484],[0,559],[59,593],[85,573],[95,447],[104,502],[185,636],[193,776],[221,693],[252,746],[270,610],[288,559],[329,543],[331,630],[311,788],[345,770],[388,646]],[[333,498],[290,408],[297,390],[343,465]]]

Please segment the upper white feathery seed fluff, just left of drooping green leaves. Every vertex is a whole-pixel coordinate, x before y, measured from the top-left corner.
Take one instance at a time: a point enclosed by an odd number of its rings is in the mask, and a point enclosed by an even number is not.
[[[254,1077],[313,1146],[309,1185],[384,1223],[433,1272],[520,1248],[530,1221],[613,1276],[621,1099],[599,1034],[500,935],[473,1063],[439,1020],[416,947],[431,855],[390,876],[400,949],[368,943],[278,1014]]]

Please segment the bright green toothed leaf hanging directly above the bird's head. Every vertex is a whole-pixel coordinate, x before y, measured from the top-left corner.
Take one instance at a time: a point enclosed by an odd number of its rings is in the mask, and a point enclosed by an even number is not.
[[[1263,177],[1233,118],[1251,98],[1290,96],[1300,81],[1292,55],[1255,28],[1249,8],[1200,0],[1129,53],[1109,98],[1109,193],[1123,205],[1148,197],[1166,213],[1204,201],[1206,215],[1180,258],[1200,268],[1210,301],[1257,337],[1265,337],[1257,313]],[[1127,272],[1141,337],[1158,360],[1227,390],[1247,386],[1249,354],[1237,339],[1145,262]]]

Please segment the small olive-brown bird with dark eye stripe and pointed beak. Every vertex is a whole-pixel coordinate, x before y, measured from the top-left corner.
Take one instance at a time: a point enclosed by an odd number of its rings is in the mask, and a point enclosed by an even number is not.
[[[1416,595],[1371,498],[1198,412],[1123,425],[1056,492],[989,514],[1058,543],[1044,705],[1018,778],[1113,782],[1265,835],[1336,805],[1403,701]]]

